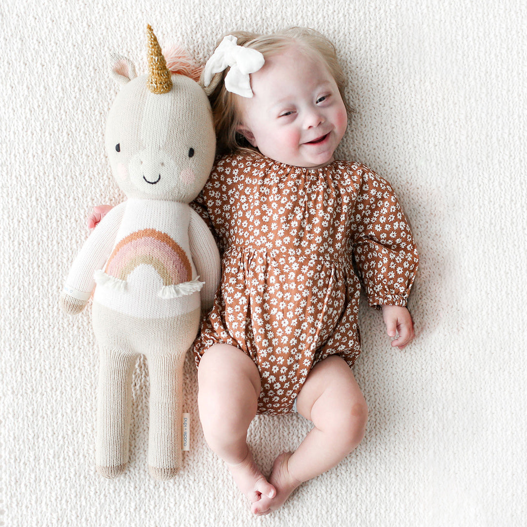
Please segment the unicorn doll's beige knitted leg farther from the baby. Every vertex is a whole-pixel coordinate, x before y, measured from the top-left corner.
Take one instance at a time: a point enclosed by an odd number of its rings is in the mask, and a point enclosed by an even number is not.
[[[135,355],[101,347],[97,401],[97,472],[113,478],[128,463]]]

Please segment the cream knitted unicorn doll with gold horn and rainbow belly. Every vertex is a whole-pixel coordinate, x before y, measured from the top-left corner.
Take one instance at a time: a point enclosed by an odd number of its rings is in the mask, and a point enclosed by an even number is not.
[[[73,262],[61,305],[80,313],[93,296],[100,346],[97,471],[121,474],[128,462],[131,376],[136,357],[150,375],[150,474],[170,479],[181,466],[183,362],[203,309],[219,284],[216,243],[190,203],[212,168],[216,139],[204,89],[172,75],[152,28],[149,75],[135,76],[112,55],[124,84],[106,124],[112,172],[128,200],[113,208]],[[213,86],[209,87],[209,90]]]

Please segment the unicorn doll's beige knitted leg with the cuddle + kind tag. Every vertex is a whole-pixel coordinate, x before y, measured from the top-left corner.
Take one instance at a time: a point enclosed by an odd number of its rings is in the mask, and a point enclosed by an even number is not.
[[[150,474],[158,480],[169,480],[181,467],[184,358],[185,353],[153,356],[148,359],[148,465]]]

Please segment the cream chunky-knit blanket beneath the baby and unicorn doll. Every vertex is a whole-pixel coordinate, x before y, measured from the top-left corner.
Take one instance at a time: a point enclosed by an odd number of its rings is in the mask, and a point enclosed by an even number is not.
[[[523,0],[7,0],[0,6],[0,524],[33,526],[516,526],[527,515]],[[133,377],[130,465],[95,473],[98,358],[87,309],[58,308],[93,204],[122,200],[103,146],[118,87],[106,56],[145,72],[145,27],[204,61],[220,34],[309,25],[336,44],[354,108],[338,154],[398,192],[421,254],[418,337],[392,350],[360,311],[364,441],[252,519],[203,441],[170,482],[148,475],[148,368]],[[309,430],[260,417],[259,464]]]

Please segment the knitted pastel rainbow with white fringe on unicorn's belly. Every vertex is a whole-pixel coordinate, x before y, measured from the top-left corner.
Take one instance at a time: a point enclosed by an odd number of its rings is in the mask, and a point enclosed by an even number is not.
[[[104,271],[96,271],[97,284],[126,291],[131,272],[141,265],[151,266],[163,281],[161,298],[174,298],[199,291],[203,282],[192,280],[192,266],[185,251],[164,232],[143,229],[132,232],[114,248]]]

